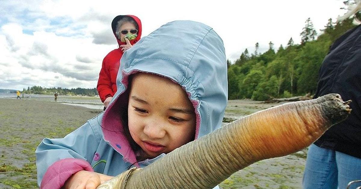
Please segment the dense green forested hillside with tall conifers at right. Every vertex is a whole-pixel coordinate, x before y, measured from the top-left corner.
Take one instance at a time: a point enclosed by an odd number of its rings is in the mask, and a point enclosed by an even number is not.
[[[277,52],[272,42],[264,53],[257,52],[258,43],[251,54],[245,49],[234,64],[227,60],[229,99],[268,100],[314,94],[318,71],[329,47],[353,27],[352,19],[334,23],[330,18],[316,39],[317,31],[308,18],[300,33],[300,44],[290,38],[287,46],[281,45]]]

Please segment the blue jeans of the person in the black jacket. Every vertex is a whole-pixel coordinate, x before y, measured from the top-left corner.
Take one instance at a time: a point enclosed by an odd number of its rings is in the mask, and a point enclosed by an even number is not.
[[[361,180],[361,159],[312,144],[303,174],[304,189],[345,189],[348,182]],[[361,186],[352,184],[350,189]]]

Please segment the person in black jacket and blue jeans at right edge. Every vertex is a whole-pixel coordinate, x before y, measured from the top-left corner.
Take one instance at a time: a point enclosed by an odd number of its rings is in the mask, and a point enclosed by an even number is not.
[[[351,115],[309,147],[304,189],[344,189],[361,180],[361,25],[340,36],[323,60],[314,98],[329,93],[352,100]]]

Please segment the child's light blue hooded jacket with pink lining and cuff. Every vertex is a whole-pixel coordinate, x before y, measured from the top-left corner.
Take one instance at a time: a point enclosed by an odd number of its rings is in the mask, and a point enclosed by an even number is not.
[[[158,74],[183,87],[195,108],[195,139],[221,126],[228,95],[222,39],[199,22],[167,23],[125,51],[117,77],[118,91],[105,112],[64,138],[43,139],[36,149],[41,188],[60,188],[80,170],[115,176],[133,164],[145,167],[165,155],[136,162],[123,133],[120,112],[127,111],[128,78],[137,72]]]

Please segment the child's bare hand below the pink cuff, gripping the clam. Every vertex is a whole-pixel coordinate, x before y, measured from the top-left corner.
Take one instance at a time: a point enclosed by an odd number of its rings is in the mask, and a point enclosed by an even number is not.
[[[64,184],[64,189],[96,189],[103,182],[112,179],[112,176],[90,171],[74,173]]]

